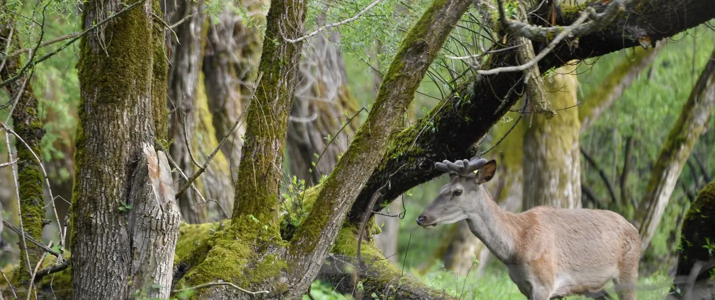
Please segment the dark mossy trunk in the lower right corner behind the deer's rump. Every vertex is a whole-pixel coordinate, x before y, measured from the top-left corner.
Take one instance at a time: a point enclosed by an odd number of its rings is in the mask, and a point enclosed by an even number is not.
[[[713,299],[715,270],[715,182],[700,191],[688,210],[681,234],[681,251],[669,300]]]

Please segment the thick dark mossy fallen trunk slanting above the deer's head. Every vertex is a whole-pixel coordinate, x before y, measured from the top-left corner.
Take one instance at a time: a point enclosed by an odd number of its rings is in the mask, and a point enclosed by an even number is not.
[[[639,3],[619,14],[605,29],[581,36],[578,48],[557,46],[540,61],[539,69],[548,70],[573,59],[601,56],[637,46],[640,36],[647,35],[651,41],[674,36],[715,17],[709,0],[641,0]],[[556,24],[571,24],[583,7],[600,5],[598,1],[581,6],[563,5],[563,14],[556,18]],[[515,51],[510,50],[490,56],[483,69],[514,65]],[[440,172],[433,169],[435,161],[473,156],[475,141],[516,103],[518,95],[514,89],[521,90],[521,86],[513,72],[476,76],[458,86],[454,94],[436,104],[427,116],[397,135],[383,156],[384,163],[370,176],[348,217],[359,220],[370,196],[385,182],[390,181],[390,187],[383,189],[385,200],[389,202],[413,186],[439,176]],[[396,174],[398,170],[399,174]]]

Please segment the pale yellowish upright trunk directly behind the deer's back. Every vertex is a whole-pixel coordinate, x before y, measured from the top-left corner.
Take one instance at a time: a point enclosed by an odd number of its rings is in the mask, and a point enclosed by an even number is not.
[[[524,135],[523,209],[534,206],[581,207],[581,156],[578,134],[578,79],[576,66],[556,69],[546,79],[553,109],[561,109],[551,120],[541,115],[526,116]]]

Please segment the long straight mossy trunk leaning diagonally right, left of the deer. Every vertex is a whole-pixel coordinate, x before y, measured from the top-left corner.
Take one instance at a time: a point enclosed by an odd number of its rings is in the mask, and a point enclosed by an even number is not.
[[[322,186],[315,202],[321,209],[310,212],[293,238],[290,264],[297,286],[309,286],[315,278],[345,213],[383,158],[425,72],[470,4],[433,1],[403,39],[368,119]]]

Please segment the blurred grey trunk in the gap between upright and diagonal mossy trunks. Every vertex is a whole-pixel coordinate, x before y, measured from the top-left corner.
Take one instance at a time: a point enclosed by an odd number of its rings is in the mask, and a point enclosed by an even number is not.
[[[310,39],[300,64],[287,151],[291,174],[305,180],[306,186],[315,185],[322,176],[330,174],[358,129],[358,120],[347,123],[358,111],[358,105],[347,87],[339,42],[337,32]],[[326,147],[328,143],[331,144]]]

